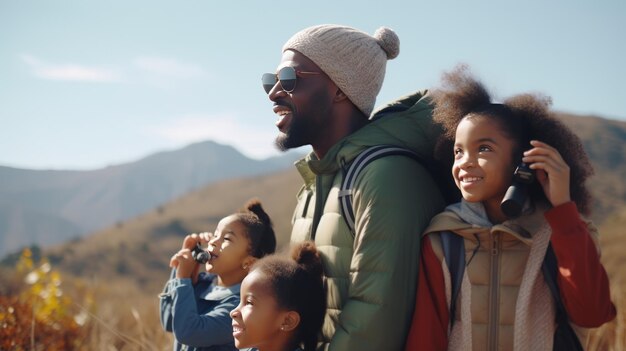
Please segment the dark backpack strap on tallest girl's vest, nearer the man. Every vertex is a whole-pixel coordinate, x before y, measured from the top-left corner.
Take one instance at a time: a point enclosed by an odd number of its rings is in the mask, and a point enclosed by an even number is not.
[[[450,325],[454,324],[456,314],[456,300],[461,290],[463,274],[465,273],[465,242],[463,237],[450,231],[440,233],[441,248],[443,257],[450,271],[450,283],[452,284],[452,295],[450,299]]]

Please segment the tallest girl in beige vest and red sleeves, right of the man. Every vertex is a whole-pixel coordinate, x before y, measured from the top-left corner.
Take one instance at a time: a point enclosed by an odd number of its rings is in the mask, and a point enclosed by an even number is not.
[[[444,152],[454,158],[463,199],[435,216],[424,234],[406,349],[552,350],[556,303],[541,270],[548,244],[569,321],[591,328],[613,319],[597,230],[579,214],[590,212],[585,180],[592,174],[580,140],[548,111],[547,98],[492,103],[464,67],[444,75],[444,83],[433,94],[434,119],[446,131]],[[536,180],[527,185],[521,215],[508,218],[500,204],[520,161]],[[465,253],[452,316],[445,231],[463,238]]]

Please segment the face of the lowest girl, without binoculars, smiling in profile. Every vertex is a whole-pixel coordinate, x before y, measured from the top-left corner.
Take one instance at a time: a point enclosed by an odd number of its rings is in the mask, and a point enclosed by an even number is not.
[[[235,346],[280,349],[277,343],[284,341],[281,327],[286,313],[279,308],[265,274],[253,270],[241,283],[239,306],[230,313]]]

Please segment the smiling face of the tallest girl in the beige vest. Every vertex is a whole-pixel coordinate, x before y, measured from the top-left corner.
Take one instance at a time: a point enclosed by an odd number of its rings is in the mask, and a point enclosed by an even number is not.
[[[511,185],[515,144],[497,122],[484,116],[463,118],[456,129],[452,176],[466,201],[499,209]]]

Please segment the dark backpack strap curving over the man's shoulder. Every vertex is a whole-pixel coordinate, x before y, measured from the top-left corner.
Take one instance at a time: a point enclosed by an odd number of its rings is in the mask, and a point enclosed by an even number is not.
[[[356,183],[356,178],[361,170],[370,164],[370,162],[390,155],[407,156],[420,161],[419,156],[411,150],[393,145],[377,145],[362,151],[352,161],[352,163],[350,163],[347,171],[344,171],[341,188],[339,189],[339,207],[341,209],[341,216],[348,225],[352,236],[355,234],[354,210],[352,208],[352,189]]]

